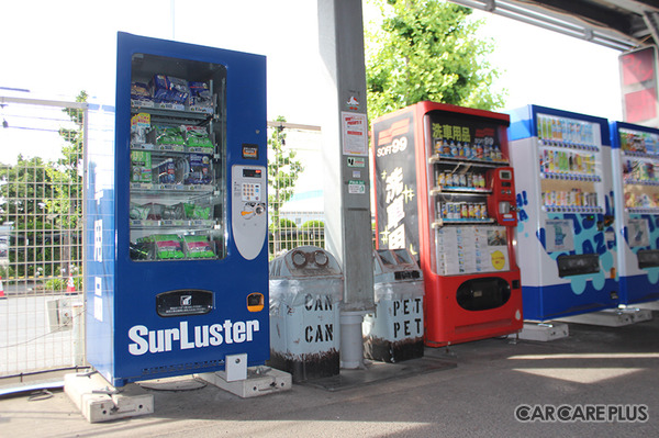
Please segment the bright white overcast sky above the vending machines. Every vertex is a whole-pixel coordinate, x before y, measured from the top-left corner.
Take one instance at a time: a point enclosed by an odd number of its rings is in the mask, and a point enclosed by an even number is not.
[[[502,75],[494,89],[507,90],[506,109],[535,103],[622,117],[619,52],[473,15],[487,21],[479,36],[495,44],[490,61]],[[315,0],[24,0],[3,2],[0,20],[0,87],[30,90],[0,89],[0,96],[70,101],[86,90],[90,102],[113,105],[116,32],[123,31],[266,55],[268,119],[321,123]],[[0,161],[7,154],[0,144]]]

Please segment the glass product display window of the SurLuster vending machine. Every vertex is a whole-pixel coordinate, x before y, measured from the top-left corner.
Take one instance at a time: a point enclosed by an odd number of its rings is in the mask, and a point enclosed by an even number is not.
[[[131,258],[223,258],[226,68],[136,53],[131,71]]]

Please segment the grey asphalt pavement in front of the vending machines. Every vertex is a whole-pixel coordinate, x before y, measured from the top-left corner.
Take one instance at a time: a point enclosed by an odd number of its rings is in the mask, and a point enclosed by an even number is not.
[[[344,371],[356,377],[345,388],[309,382],[241,398],[181,377],[182,390],[147,388],[154,414],[108,423],[88,423],[58,389],[13,394],[0,397],[0,436],[659,436],[659,314],[624,327],[569,329],[549,342],[426,348],[423,359]]]

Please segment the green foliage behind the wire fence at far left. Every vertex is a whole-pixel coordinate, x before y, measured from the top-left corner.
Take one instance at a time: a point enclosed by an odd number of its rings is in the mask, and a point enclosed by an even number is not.
[[[76,99],[87,100],[82,91]],[[12,226],[9,260],[15,274],[59,276],[62,267],[82,254],[82,147],[83,111],[64,109],[72,127],[62,127],[63,157],[44,161],[40,157],[18,156],[14,166],[3,166],[0,221]]]

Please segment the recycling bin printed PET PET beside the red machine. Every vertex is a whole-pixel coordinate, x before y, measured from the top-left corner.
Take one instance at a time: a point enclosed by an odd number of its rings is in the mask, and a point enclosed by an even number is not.
[[[406,249],[373,251],[376,311],[364,317],[364,356],[383,362],[423,357],[423,273]]]

